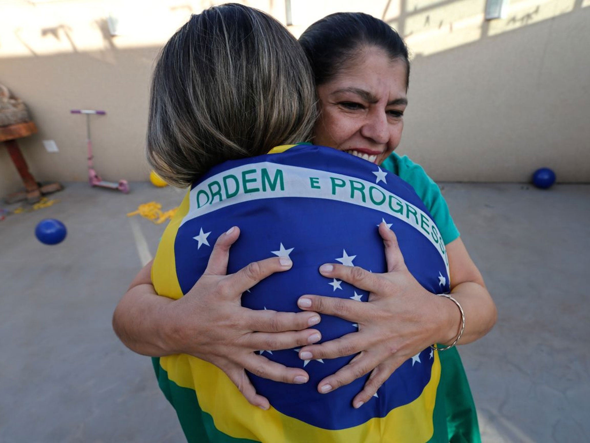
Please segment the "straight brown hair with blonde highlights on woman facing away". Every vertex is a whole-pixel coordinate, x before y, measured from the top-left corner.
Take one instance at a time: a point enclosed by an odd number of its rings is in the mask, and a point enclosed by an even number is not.
[[[309,62],[264,12],[238,4],[193,15],[156,64],[150,165],[186,187],[214,165],[307,141],[316,120]]]

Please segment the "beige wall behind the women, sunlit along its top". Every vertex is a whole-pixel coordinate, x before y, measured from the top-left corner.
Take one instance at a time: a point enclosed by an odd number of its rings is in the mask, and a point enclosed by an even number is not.
[[[40,181],[86,180],[84,118],[104,178],[145,180],[149,77],[161,45],[209,1],[0,3],[0,83],[40,129],[19,144]],[[281,0],[245,2],[286,22]],[[399,152],[436,180],[527,181],[535,168],[590,181],[590,0],[511,0],[485,21],[484,0],[291,0],[295,35],[335,11],[390,22],[414,54]],[[107,17],[119,21],[112,36]],[[8,24],[8,25],[5,25]],[[45,151],[42,140],[60,149]],[[0,195],[20,187],[0,146]]]

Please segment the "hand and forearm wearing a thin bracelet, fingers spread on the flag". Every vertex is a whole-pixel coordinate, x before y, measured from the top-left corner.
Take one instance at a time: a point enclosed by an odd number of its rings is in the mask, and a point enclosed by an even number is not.
[[[404,361],[433,343],[452,343],[459,332],[461,322],[460,312],[452,301],[426,291],[409,273],[395,234],[384,223],[379,226],[379,233],[385,244],[387,273],[371,273],[362,268],[343,265],[320,267],[320,272],[326,277],[341,279],[370,291],[368,302],[317,295],[304,295],[298,302],[303,310],[336,315],[359,325],[359,331],[356,333],[303,347],[299,353],[303,360],[333,359],[358,354],[348,365],[326,377],[318,385],[319,392],[326,393],[371,372],[365,387],[353,399],[355,408],[371,399],[383,382]],[[447,247],[447,253],[448,250]],[[452,265],[453,263],[451,268]],[[473,267],[475,268],[475,265]],[[477,271],[477,268],[475,270]],[[467,275],[470,273],[465,272],[465,276],[462,277],[466,278]],[[479,278],[481,279],[481,276]],[[483,289],[485,294],[478,294],[481,296],[478,309],[490,311],[491,298],[483,286],[483,280],[481,285],[474,282],[467,284]],[[458,285],[454,287],[457,288]],[[468,289],[473,292],[473,287],[469,286]],[[458,295],[454,294],[454,297],[458,298]],[[483,301],[486,297],[489,302]],[[469,314],[466,315],[468,317]],[[489,318],[493,317],[491,323],[484,323],[489,324],[489,328],[472,331],[470,341],[487,333],[495,322],[493,302],[491,313],[484,314],[484,317],[486,315]],[[466,332],[464,337],[466,335],[469,334]]]

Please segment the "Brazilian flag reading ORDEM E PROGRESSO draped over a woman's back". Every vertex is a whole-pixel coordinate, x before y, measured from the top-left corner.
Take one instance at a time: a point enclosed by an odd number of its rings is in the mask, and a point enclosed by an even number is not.
[[[278,154],[272,152],[279,152]],[[318,272],[323,263],[385,272],[378,225],[394,230],[409,271],[428,291],[450,291],[442,237],[414,189],[364,159],[332,148],[281,146],[271,154],[228,161],[196,182],[167,227],[152,268],[160,295],[178,299],[205,271],[215,239],[231,226],[228,272],[255,260],[289,256],[293,268],[271,275],[242,295],[255,310],[299,311],[303,294],[368,301],[368,293]],[[322,340],[358,330],[322,316]],[[188,355],[154,359],[160,387],[189,441],[211,442],[448,442],[444,405],[437,402],[441,364],[430,347],[405,361],[359,409],[352,399],[368,376],[334,392],[317,383],[353,356],[303,361],[296,349],[260,350],[270,360],[304,367],[304,385],[250,374],[268,411],[250,405],[214,365]]]

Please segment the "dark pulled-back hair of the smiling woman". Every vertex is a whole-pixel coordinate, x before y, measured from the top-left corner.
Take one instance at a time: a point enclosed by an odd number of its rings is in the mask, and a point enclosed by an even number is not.
[[[307,28],[299,43],[312,65],[316,86],[329,82],[349,66],[366,47],[385,51],[391,60],[406,64],[409,83],[408,48],[395,30],[378,18],[362,12],[336,12]]]

